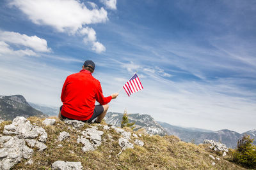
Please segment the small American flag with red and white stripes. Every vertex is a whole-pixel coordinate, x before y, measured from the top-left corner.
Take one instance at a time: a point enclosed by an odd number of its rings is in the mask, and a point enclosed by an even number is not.
[[[137,74],[135,73],[134,76],[132,76],[132,78],[129,81],[127,81],[127,83],[125,83],[123,88],[125,92],[128,94],[128,96],[131,96],[131,94],[142,90],[143,86]]]

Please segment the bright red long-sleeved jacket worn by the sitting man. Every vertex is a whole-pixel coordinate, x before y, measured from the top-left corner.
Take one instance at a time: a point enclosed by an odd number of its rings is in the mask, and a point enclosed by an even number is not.
[[[63,107],[61,115],[76,120],[88,120],[93,115],[95,100],[108,104],[112,97],[104,97],[100,81],[90,71],[82,69],[67,77],[61,92]]]

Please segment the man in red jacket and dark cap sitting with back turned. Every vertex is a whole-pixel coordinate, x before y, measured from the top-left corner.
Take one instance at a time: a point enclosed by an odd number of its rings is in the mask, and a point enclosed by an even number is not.
[[[63,105],[60,108],[59,118],[69,118],[91,123],[100,123],[108,111],[108,103],[115,99],[118,93],[104,97],[100,81],[92,76],[95,64],[86,60],[79,73],[71,74],[65,80],[61,92]],[[99,105],[95,106],[95,101]]]

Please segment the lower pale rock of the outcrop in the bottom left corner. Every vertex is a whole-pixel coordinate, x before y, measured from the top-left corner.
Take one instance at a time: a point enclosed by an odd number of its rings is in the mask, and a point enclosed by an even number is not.
[[[19,139],[17,136],[0,137],[0,169],[11,169],[23,158],[29,159],[33,150],[26,146],[25,139]]]

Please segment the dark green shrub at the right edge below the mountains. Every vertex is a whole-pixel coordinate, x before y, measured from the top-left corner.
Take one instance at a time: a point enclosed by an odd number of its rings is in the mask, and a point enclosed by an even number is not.
[[[233,152],[233,161],[244,167],[256,168],[256,146],[253,139],[245,134],[237,142],[237,149]]]

